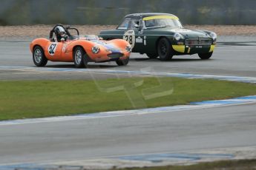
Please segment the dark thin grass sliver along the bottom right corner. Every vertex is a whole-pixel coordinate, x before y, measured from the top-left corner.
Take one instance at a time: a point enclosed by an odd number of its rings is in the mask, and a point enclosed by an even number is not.
[[[191,166],[160,166],[127,168],[119,170],[252,170],[256,169],[256,160],[223,160],[212,163],[198,163]]]

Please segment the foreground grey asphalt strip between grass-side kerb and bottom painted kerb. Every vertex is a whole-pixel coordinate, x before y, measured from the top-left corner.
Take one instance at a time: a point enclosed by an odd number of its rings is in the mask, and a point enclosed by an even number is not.
[[[0,163],[256,145],[256,105],[1,126]]]

